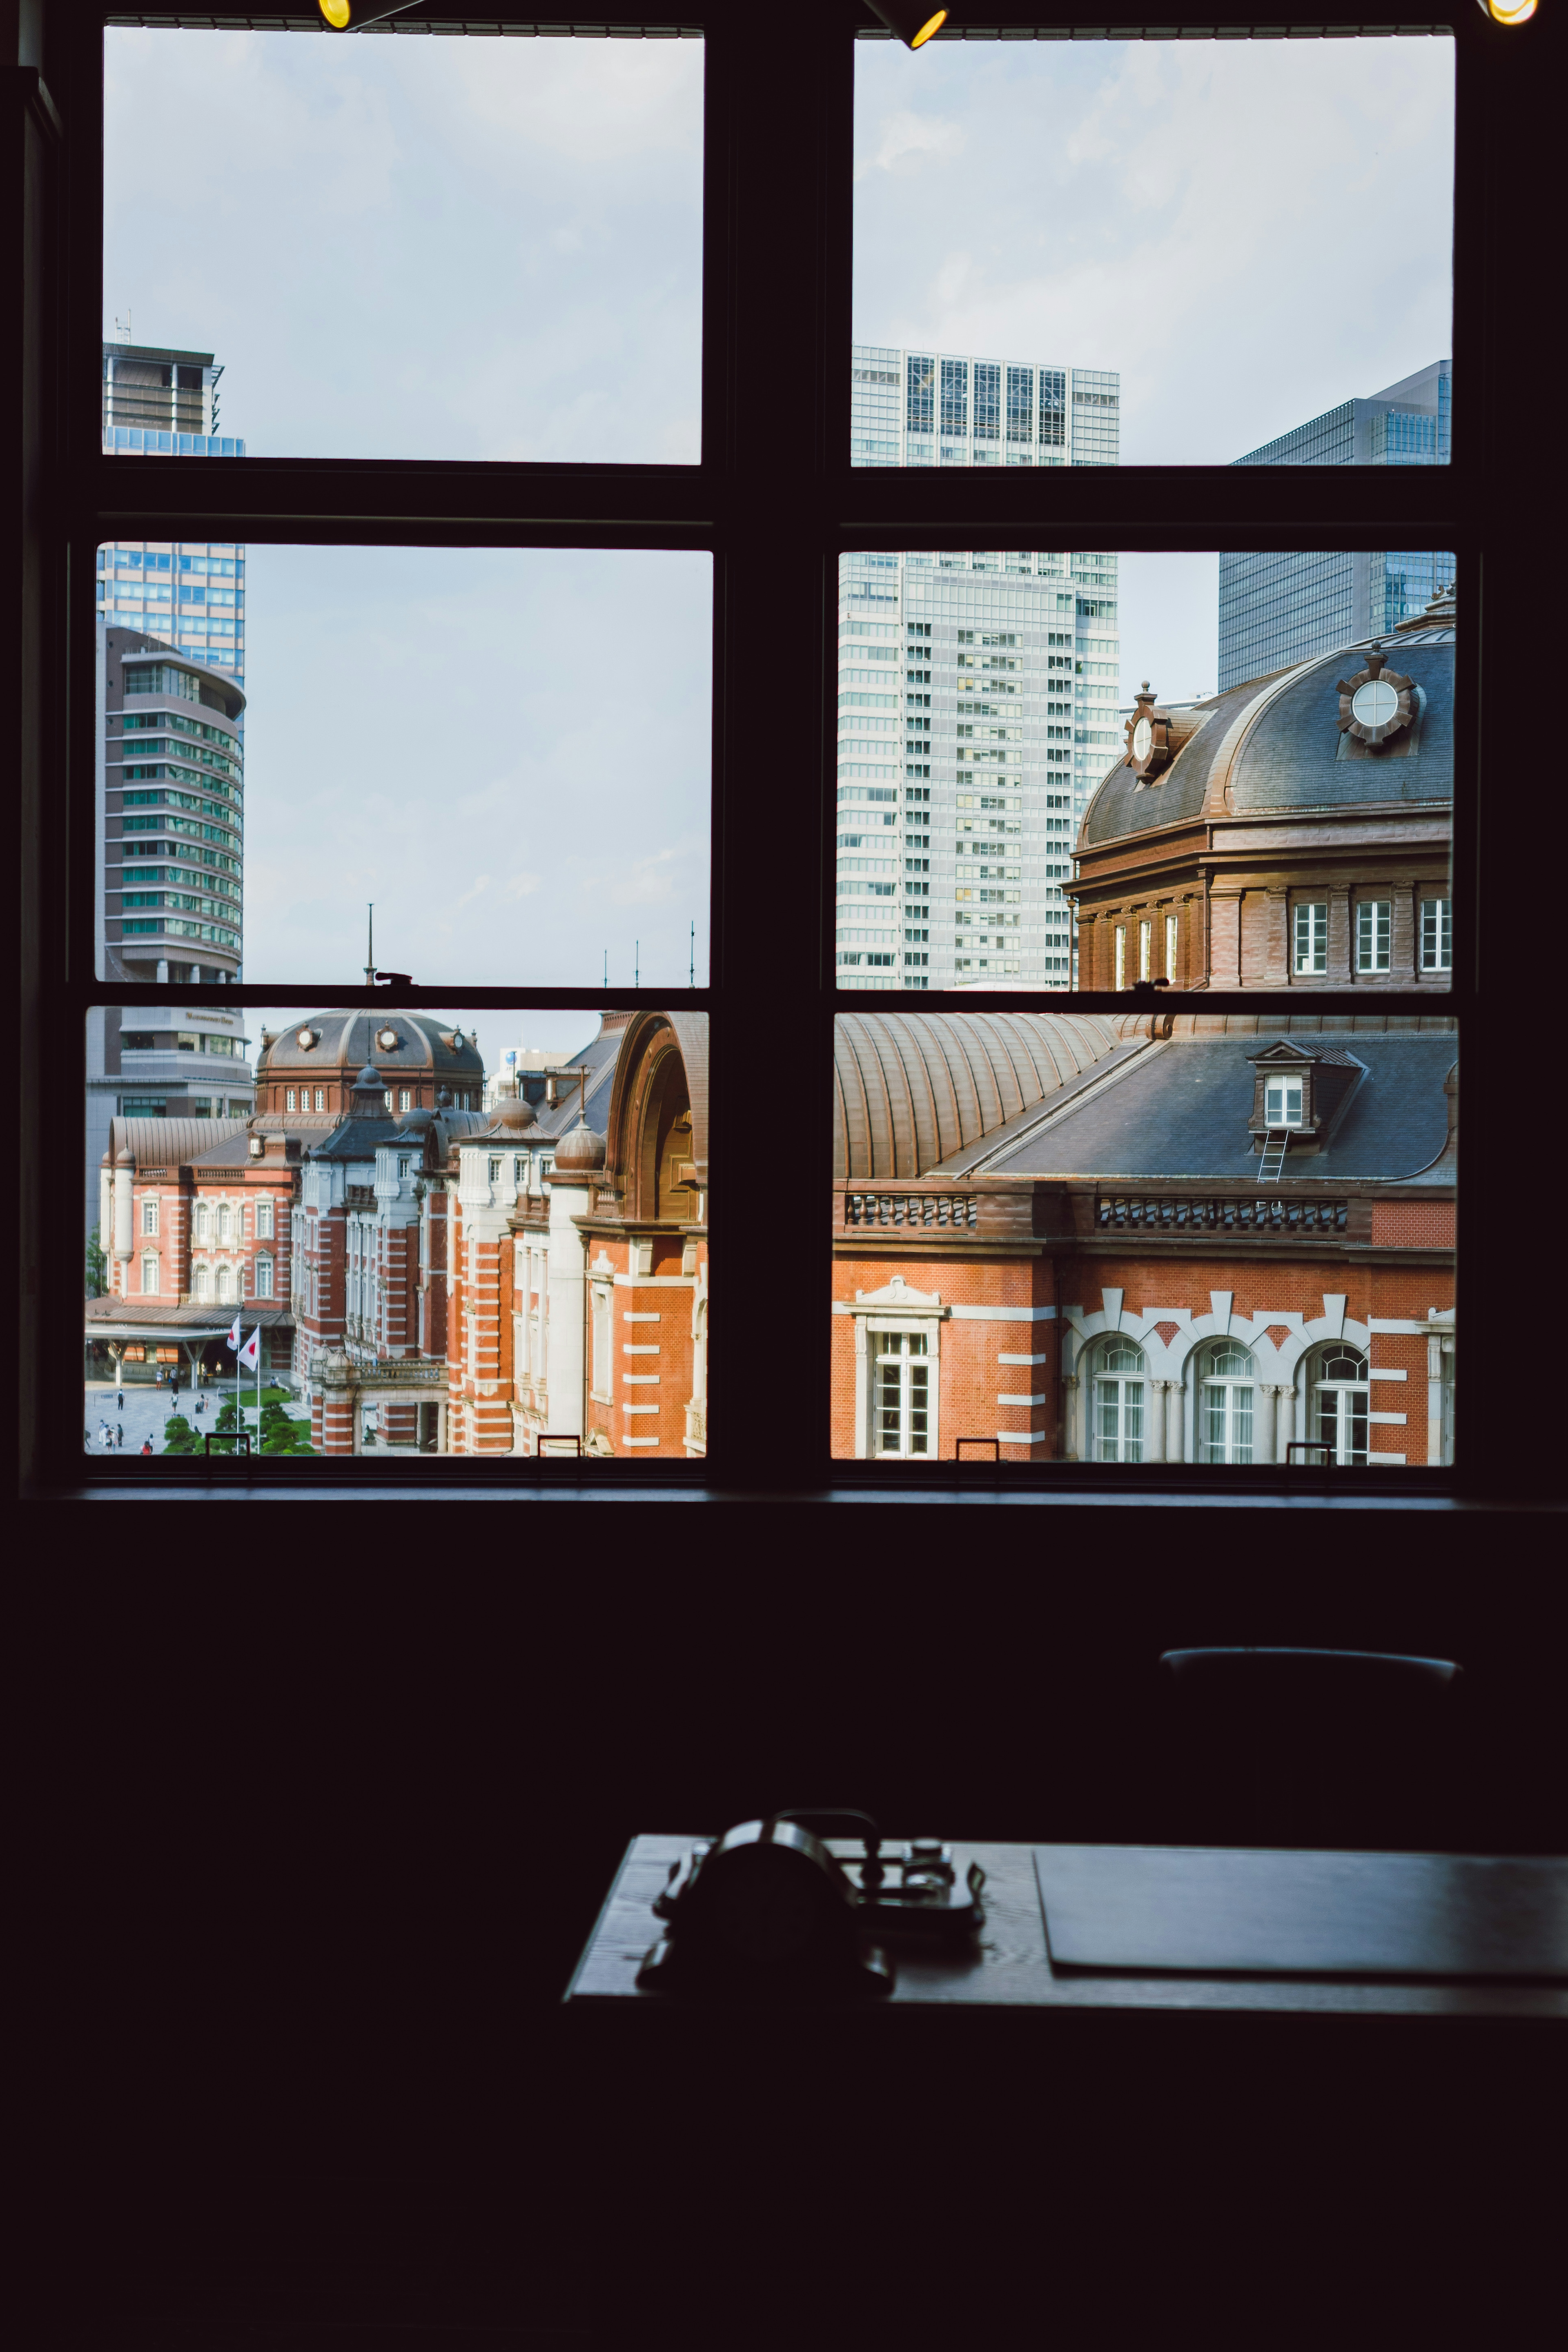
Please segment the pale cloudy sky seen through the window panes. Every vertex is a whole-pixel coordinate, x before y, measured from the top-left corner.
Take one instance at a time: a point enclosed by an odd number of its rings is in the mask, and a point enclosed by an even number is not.
[[[103,332],[216,353],[252,456],[698,456],[701,42],[106,75]],[[853,332],[1119,369],[1126,463],[1225,461],[1448,353],[1450,151],[1448,40],[858,42]],[[1215,684],[1215,600],[1124,557],[1124,694]],[[708,978],[708,557],[252,546],[244,682],[247,981],[350,985],[367,898],[421,985],[675,985],[693,920]]]

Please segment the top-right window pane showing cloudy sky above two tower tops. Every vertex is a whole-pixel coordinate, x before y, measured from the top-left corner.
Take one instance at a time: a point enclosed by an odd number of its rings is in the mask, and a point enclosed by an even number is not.
[[[851,456],[1446,463],[1450,242],[1448,38],[863,42]]]

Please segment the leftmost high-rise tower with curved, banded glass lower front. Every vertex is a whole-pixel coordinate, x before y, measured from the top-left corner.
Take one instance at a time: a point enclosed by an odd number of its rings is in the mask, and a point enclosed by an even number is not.
[[[103,343],[106,456],[244,456],[219,435],[209,350]],[[186,990],[169,1014],[87,1018],[87,1230],[120,1117],[247,1117],[244,548],[99,548],[99,974]]]

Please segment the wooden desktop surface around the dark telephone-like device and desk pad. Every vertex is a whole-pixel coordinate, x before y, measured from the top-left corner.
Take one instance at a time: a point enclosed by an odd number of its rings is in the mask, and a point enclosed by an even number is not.
[[[670,1863],[703,1844],[701,1837],[635,1837],[609,1891],[599,1922],[567,1990],[574,2011],[604,2004],[672,2006],[663,1994],[637,1992],[637,1966],[658,1936],[654,1896]],[[827,1842],[844,1856],[860,1849]],[[896,1844],[896,1839],[889,1839]],[[1190,1976],[1056,1969],[1034,1875],[1032,1846],[952,1846],[959,1877],[971,1860],[985,1870],[985,1929],[978,1947],[954,1955],[898,1952],[898,1983],[886,2002],[865,2011],[1206,2011],[1258,2016],[1401,2016],[1401,2018],[1568,2018],[1568,1985],[1476,1983],[1453,1978],[1333,1978],[1333,1976]]]

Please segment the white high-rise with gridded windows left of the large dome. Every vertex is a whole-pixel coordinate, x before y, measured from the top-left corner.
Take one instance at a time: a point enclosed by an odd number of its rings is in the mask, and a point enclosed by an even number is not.
[[[858,343],[853,466],[1114,466],[1121,379]],[[1072,837],[1121,743],[1117,555],[839,560],[842,988],[1070,988]]]

